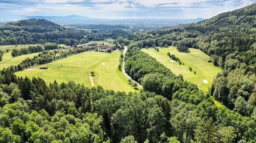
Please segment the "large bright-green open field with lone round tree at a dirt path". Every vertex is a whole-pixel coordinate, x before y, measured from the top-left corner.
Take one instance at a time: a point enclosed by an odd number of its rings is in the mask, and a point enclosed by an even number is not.
[[[39,76],[46,82],[58,83],[73,80],[76,83],[91,87],[90,70],[95,71],[93,82],[95,86],[102,86],[104,89],[115,91],[139,91],[140,87],[134,89],[128,84],[128,79],[118,70],[120,52],[102,53],[102,52],[84,52],[74,56],[54,61],[40,66],[48,66],[48,70],[28,69],[16,72],[17,76]]]

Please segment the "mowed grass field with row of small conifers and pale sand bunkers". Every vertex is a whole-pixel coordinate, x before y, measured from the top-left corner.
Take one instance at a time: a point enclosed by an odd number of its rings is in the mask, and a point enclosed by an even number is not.
[[[182,53],[175,47],[170,46],[169,48],[159,48],[159,52],[153,48],[143,49],[142,51],[148,53],[158,62],[169,68],[175,75],[182,74],[184,80],[197,84],[201,90],[208,91],[213,77],[221,72],[221,68],[215,67],[212,63],[207,62],[210,57],[200,50],[193,48],[189,48],[189,50],[190,53]],[[168,52],[171,55],[174,54],[185,65],[180,65],[176,61],[170,62],[172,59],[167,55]],[[192,67],[192,71],[189,70],[189,67]],[[194,74],[194,71],[196,74]],[[208,84],[204,83],[204,80],[207,80]]]

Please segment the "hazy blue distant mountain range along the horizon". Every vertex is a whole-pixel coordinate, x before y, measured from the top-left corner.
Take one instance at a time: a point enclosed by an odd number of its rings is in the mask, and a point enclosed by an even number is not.
[[[18,15],[18,14],[9,14],[0,16],[0,22],[10,22],[10,21],[18,21],[18,20],[27,20],[27,19],[45,19],[52,22],[55,22],[60,25],[67,24],[122,24],[122,25],[136,25],[136,24],[144,24],[144,25],[155,25],[156,22],[163,26],[166,25],[183,25],[189,23],[196,23],[203,21],[205,19],[196,18],[196,19],[120,19],[120,20],[111,20],[111,19],[94,19],[90,17],[83,17],[79,15],[70,15],[70,16],[26,16],[26,15]]]

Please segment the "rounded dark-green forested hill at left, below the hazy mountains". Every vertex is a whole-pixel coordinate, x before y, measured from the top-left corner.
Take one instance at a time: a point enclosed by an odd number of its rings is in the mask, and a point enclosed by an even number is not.
[[[0,27],[0,45],[64,43],[66,39],[84,38],[85,31],[65,28],[43,19],[11,22]],[[40,41],[39,41],[40,40]]]

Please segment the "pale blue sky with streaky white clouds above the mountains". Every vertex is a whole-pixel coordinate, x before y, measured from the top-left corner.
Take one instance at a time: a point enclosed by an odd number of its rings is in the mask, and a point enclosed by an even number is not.
[[[105,19],[210,18],[256,0],[0,0],[0,15],[81,15]]]

